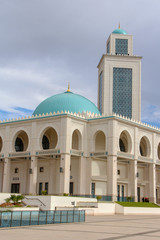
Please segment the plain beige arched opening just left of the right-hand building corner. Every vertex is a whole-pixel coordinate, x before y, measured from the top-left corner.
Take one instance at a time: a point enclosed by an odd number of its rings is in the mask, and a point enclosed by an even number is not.
[[[99,131],[95,137],[95,151],[105,151],[106,150],[106,136],[102,131]]]

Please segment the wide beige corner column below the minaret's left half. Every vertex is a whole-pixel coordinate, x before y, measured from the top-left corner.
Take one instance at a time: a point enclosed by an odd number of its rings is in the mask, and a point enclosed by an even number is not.
[[[117,156],[107,158],[107,195],[117,201]]]

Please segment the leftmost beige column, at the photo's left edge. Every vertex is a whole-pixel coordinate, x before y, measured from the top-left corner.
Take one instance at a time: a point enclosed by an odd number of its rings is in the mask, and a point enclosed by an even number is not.
[[[4,168],[3,168],[3,185],[2,192],[10,193],[11,192],[11,160],[8,158],[4,159]]]

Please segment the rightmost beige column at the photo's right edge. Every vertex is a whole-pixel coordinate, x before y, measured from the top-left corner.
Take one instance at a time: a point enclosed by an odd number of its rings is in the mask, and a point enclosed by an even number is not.
[[[156,203],[156,167],[149,164],[149,201]]]

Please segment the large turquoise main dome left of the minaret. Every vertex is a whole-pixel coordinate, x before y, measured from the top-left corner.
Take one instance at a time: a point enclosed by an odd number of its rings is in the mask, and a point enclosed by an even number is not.
[[[91,112],[100,114],[98,108],[85,97],[72,92],[64,92],[51,96],[41,102],[35,109],[33,115],[46,114],[50,112],[69,111],[72,113]]]

